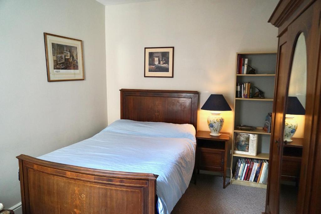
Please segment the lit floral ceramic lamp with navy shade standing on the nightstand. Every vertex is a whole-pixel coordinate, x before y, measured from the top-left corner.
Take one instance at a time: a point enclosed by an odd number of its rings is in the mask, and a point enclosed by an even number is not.
[[[211,130],[210,135],[220,136],[220,131],[224,124],[224,118],[220,111],[231,111],[229,104],[227,104],[222,94],[211,94],[202,106],[203,110],[215,111],[207,118],[208,127]]]

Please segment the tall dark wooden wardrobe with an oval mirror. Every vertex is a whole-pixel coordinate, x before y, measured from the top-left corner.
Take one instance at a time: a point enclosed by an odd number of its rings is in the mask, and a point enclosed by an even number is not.
[[[269,22],[279,41],[265,213],[321,213],[321,0],[281,0]]]

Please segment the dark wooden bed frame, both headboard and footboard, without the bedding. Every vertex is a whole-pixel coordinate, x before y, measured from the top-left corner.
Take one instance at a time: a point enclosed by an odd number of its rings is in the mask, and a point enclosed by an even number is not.
[[[120,90],[120,117],[193,124],[198,92]],[[149,173],[76,167],[19,155],[22,213],[157,213],[156,178]]]

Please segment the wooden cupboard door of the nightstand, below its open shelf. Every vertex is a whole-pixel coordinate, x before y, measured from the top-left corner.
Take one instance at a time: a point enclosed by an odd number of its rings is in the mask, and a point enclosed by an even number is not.
[[[225,151],[198,148],[199,169],[208,171],[224,171]]]

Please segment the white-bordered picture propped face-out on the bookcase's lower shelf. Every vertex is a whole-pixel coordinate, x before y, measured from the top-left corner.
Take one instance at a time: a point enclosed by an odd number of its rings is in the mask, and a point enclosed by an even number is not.
[[[234,133],[234,153],[256,156],[256,148],[257,134]]]

